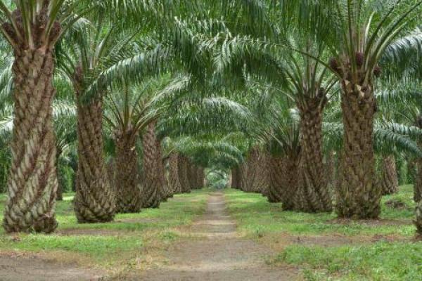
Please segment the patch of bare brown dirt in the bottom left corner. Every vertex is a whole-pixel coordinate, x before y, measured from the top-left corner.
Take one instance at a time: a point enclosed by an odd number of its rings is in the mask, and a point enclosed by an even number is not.
[[[94,281],[101,273],[80,268],[77,263],[63,263],[39,254],[1,253],[1,281]]]

